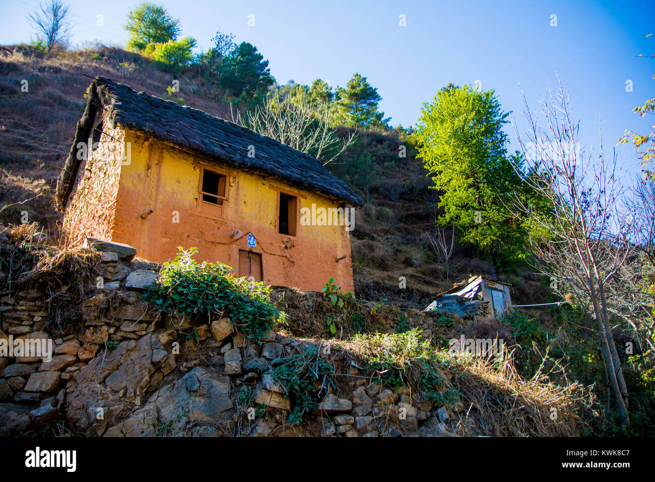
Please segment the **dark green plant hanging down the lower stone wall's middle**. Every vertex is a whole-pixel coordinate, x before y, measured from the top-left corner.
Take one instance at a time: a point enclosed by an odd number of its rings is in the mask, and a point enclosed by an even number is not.
[[[299,424],[305,414],[318,408],[320,394],[333,386],[334,372],[333,365],[320,357],[316,346],[293,355],[273,370],[274,380],[284,388],[291,402],[290,424]]]

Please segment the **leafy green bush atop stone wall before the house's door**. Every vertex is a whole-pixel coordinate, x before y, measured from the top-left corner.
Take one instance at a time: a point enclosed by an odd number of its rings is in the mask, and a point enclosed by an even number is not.
[[[227,311],[231,323],[258,344],[278,319],[284,319],[264,283],[235,278],[226,264],[196,262],[191,258],[198,252],[196,248],[179,250],[172,262],[164,263],[157,283],[142,296],[159,311],[188,317]]]

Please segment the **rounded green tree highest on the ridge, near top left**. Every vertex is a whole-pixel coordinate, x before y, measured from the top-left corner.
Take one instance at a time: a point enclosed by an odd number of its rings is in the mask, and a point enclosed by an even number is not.
[[[179,20],[168,14],[162,5],[143,2],[127,14],[125,30],[130,32],[128,49],[141,51],[151,43],[177,40],[181,31]]]

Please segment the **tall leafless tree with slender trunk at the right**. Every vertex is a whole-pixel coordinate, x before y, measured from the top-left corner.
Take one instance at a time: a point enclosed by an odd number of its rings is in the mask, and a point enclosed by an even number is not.
[[[609,389],[623,425],[628,426],[628,393],[608,302],[610,283],[633,253],[632,243],[621,235],[626,218],[618,209],[624,188],[616,175],[616,155],[606,157],[602,140],[597,152],[582,149],[580,123],[572,117],[559,77],[554,92],[549,88],[546,100],[540,102],[540,116],[529,108],[525,94],[523,103],[525,138],[514,123],[529,172],[521,174],[551,209],[544,213],[517,196],[515,210],[533,223],[529,244],[540,272],[552,277],[553,288],[561,294],[572,294],[595,321]]]

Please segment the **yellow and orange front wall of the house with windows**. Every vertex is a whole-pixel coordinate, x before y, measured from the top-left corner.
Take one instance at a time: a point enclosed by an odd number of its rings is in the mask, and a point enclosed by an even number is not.
[[[261,254],[267,285],[320,290],[330,277],[345,291],[354,291],[350,233],[345,226],[301,226],[297,235],[278,233],[279,193],[299,199],[302,207],[339,207],[339,201],[299,190],[276,178],[241,171],[147,138],[124,132],[132,143],[129,165],[121,167],[111,239],[127,243],[138,256],[164,262],[184,249],[197,247],[198,260],[219,261],[235,270],[239,250]],[[225,214],[210,217],[198,212],[200,169],[227,176]],[[141,215],[152,210],[145,218]],[[240,233],[233,235],[234,231]],[[256,247],[246,246],[247,234]],[[339,262],[337,258],[346,256]]]

